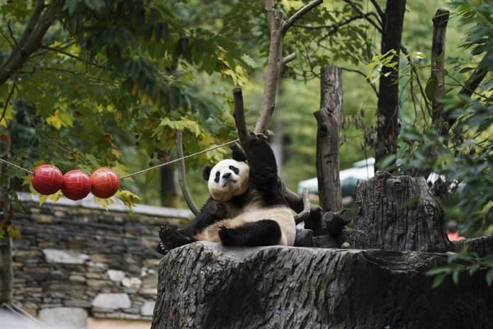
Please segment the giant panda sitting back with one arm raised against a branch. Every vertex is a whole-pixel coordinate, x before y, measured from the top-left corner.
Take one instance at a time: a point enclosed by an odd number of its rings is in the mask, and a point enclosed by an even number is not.
[[[249,152],[205,167],[210,197],[186,227],[161,226],[157,250],[195,241],[225,246],[294,245],[295,219],[279,189],[276,158],[262,136],[251,135]]]

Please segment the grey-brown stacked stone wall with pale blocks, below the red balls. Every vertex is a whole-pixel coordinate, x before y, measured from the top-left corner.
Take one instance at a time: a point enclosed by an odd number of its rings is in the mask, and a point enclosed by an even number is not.
[[[13,224],[13,302],[33,316],[69,328],[87,318],[151,319],[157,295],[154,250],[160,224],[183,225],[191,214],[122,205],[105,211],[90,200],[56,203],[20,194]],[[174,217],[174,218],[171,218]]]

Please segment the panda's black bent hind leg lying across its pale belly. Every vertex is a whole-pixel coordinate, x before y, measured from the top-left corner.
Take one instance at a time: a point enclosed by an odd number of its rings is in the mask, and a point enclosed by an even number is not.
[[[223,245],[244,245],[249,247],[259,245],[277,245],[281,238],[280,226],[276,221],[263,219],[261,221],[244,223],[234,228],[220,226],[219,237]]]

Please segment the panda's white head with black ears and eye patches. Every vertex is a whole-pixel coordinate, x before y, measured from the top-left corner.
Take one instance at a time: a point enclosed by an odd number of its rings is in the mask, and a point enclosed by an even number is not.
[[[250,168],[245,160],[246,157],[233,152],[233,159],[222,160],[212,168],[205,167],[203,177],[208,181],[213,199],[229,201],[248,190]]]

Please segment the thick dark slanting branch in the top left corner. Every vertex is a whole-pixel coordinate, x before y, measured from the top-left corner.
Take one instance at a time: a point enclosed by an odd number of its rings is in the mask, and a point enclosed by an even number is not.
[[[18,47],[12,50],[7,60],[1,65],[0,85],[4,84],[18,69],[21,69],[30,55],[40,48],[42,38],[56,18],[55,8],[52,4],[47,6],[40,16],[43,8],[45,8],[45,1],[38,1],[33,16],[31,16],[26,30],[18,42]]]

